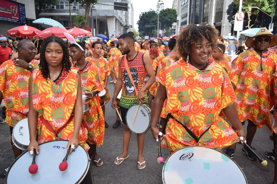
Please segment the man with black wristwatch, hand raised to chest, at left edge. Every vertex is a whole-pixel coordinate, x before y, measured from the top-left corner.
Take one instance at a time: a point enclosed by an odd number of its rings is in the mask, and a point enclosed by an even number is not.
[[[0,66],[0,103],[2,99],[6,107],[6,123],[9,125],[11,136],[14,125],[27,118],[29,112],[28,83],[29,77],[39,61],[33,60],[36,55],[35,45],[30,40],[21,40],[17,44],[17,60],[10,59]],[[12,151],[16,159],[22,150],[12,144]],[[8,168],[1,174],[6,177]]]

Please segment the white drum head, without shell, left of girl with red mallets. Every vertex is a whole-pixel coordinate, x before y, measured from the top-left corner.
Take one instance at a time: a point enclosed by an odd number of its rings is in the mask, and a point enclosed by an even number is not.
[[[12,135],[17,142],[28,146],[30,143],[28,118],[24,118],[16,123],[12,131]]]

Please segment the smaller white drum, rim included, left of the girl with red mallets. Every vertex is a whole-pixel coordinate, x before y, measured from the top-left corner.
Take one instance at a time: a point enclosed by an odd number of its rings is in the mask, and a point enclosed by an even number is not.
[[[30,143],[28,118],[19,120],[12,130],[12,142],[21,150],[26,150]]]

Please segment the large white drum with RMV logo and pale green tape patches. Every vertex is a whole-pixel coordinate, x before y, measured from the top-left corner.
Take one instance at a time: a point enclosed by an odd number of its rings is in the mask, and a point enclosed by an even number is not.
[[[234,177],[235,176],[235,177]],[[165,162],[163,184],[205,183],[247,184],[234,160],[209,147],[188,146],[173,152]]]

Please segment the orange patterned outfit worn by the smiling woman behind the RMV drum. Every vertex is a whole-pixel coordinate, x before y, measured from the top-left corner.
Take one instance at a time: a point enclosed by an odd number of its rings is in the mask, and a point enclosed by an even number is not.
[[[165,69],[158,82],[166,88],[166,112],[175,118],[169,119],[163,141],[170,152],[198,145],[221,149],[238,140],[234,130],[218,116],[220,109],[235,101],[235,94],[227,73],[217,63],[211,63],[201,72],[179,60]],[[176,120],[197,138],[207,131],[198,143]]]

